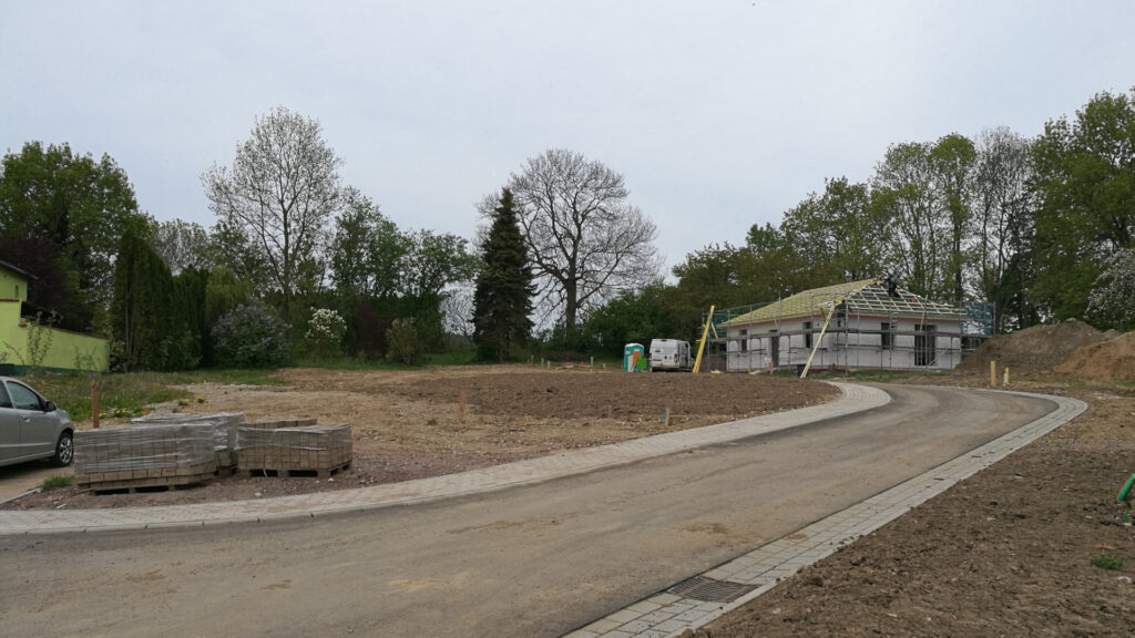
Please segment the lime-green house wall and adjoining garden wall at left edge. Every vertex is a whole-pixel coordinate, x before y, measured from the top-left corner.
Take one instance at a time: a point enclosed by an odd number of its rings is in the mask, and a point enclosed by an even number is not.
[[[33,329],[20,325],[19,302],[0,301],[0,354],[6,363],[27,366],[27,338]],[[51,344],[43,359],[44,368],[56,370],[107,370],[110,343],[107,339],[67,330],[51,330]],[[82,361],[81,361],[82,360]]]

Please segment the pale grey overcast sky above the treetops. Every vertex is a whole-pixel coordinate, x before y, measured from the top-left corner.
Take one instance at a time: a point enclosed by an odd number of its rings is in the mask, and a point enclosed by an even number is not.
[[[1133,33],[1111,0],[0,0],[0,150],[108,153],[142,209],[210,226],[201,174],[283,106],[400,227],[472,238],[564,148],[624,175],[669,269],[889,144],[1036,135],[1129,90]]]

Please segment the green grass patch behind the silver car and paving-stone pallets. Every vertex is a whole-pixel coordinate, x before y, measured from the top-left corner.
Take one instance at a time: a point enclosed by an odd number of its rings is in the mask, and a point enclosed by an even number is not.
[[[107,417],[137,417],[145,406],[175,400],[193,400],[179,387],[197,383],[236,385],[287,385],[275,370],[193,370],[190,372],[128,372],[116,375],[36,375],[28,383],[54,401],[72,419],[91,419],[91,384],[99,384],[99,412]]]

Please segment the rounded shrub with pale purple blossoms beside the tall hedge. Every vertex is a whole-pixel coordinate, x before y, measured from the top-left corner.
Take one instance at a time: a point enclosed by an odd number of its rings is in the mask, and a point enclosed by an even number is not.
[[[289,326],[260,305],[237,305],[213,326],[217,363],[233,368],[271,368],[287,362]]]

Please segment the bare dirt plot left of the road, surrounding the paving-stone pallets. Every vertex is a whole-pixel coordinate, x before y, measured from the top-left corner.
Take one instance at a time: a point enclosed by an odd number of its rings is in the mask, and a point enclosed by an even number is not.
[[[200,403],[161,405],[155,412],[244,412],[247,420],[296,415],[347,422],[354,437],[348,470],[330,479],[225,478],[138,494],[68,487],[0,509],[204,503],[395,482],[792,410],[839,394],[819,381],[767,376],[629,375],[524,366],[413,372],[287,369],[280,376],[289,385],[191,386]]]

